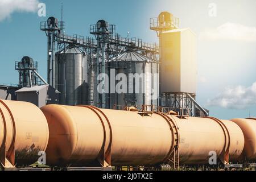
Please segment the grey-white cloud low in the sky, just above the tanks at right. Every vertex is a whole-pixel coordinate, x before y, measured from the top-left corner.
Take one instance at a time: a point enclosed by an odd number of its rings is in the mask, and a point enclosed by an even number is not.
[[[208,100],[208,106],[220,106],[228,109],[244,109],[256,105],[256,82],[249,87],[228,87],[217,97]]]

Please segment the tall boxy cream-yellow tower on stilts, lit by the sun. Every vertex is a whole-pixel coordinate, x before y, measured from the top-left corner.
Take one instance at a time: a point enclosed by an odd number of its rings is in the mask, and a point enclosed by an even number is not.
[[[190,28],[179,28],[179,19],[162,12],[150,19],[150,29],[159,37],[160,105],[181,115],[204,115],[196,102],[196,35]]]

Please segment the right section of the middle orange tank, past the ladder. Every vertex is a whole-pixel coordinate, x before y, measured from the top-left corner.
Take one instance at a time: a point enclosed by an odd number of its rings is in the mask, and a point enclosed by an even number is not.
[[[208,164],[209,157],[214,152],[224,162],[224,148],[225,151],[228,150],[230,161],[237,161],[241,155],[244,146],[243,133],[232,121],[195,117],[180,119],[174,115],[170,117],[179,127],[181,164]]]

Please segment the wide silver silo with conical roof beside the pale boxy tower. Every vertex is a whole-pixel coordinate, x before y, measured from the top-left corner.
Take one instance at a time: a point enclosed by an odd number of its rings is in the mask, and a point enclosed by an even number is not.
[[[110,92],[109,107],[157,105],[159,94],[158,62],[136,51],[127,51],[108,62],[114,69],[115,93]],[[113,75],[110,75],[111,78]],[[123,80],[123,76],[126,78]],[[125,87],[127,89],[125,89]]]

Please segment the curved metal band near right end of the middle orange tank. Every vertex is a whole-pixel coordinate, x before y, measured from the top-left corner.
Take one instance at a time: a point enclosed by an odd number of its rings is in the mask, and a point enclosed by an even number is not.
[[[218,125],[221,126],[221,129],[222,129],[223,132],[224,132],[224,136],[225,136],[225,145],[224,145],[224,148],[223,148],[223,150],[221,151],[221,153],[224,152],[224,155],[225,155],[225,157],[224,157],[224,163],[225,163],[226,155],[229,156],[229,147],[230,147],[230,134],[229,134],[229,130],[228,130],[228,128],[226,127],[226,125],[225,125],[220,119],[217,119],[217,118],[214,118],[214,117],[204,117],[204,118],[209,118],[209,119],[212,119],[213,121],[217,122]],[[228,136],[227,136],[227,135],[228,135]],[[226,143],[226,139],[227,139],[227,138],[228,138],[228,145],[227,145],[227,143]],[[229,163],[229,161],[226,161],[226,162]]]

